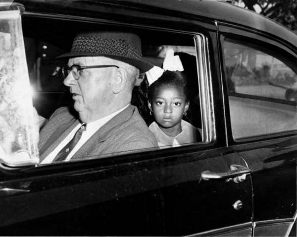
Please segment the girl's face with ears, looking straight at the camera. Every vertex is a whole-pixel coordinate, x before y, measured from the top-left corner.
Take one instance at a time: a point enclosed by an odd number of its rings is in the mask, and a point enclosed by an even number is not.
[[[183,113],[189,109],[189,102],[181,89],[175,86],[160,87],[151,103],[148,102],[148,107],[163,131],[170,129],[171,134],[173,131],[177,134],[181,132]]]

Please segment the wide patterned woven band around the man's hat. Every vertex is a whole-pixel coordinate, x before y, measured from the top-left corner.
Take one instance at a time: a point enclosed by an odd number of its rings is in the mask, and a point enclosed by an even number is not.
[[[117,55],[131,59],[142,58],[141,51],[131,47],[125,40],[93,36],[77,36],[73,41],[71,52]]]

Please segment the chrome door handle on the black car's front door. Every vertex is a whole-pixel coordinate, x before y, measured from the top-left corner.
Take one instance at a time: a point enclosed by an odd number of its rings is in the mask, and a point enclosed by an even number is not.
[[[251,171],[244,166],[231,165],[230,171],[227,171],[227,172],[203,171],[203,172],[201,172],[201,178],[203,180],[221,179],[221,178],[235,178],[237,176],[243,176],[243,175],[250,174],[250,172]],[[243,181],[243,180],[240,180],[240,181]]]

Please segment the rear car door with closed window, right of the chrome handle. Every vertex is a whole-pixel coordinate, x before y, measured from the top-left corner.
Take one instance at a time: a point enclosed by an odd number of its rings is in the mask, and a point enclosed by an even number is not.
[[[288,236],[291,231],[296,236],[296,48],[277,42],[277,36],[226,25],[219,29],[228,137],[230,148],[251,170],[254,236]]]

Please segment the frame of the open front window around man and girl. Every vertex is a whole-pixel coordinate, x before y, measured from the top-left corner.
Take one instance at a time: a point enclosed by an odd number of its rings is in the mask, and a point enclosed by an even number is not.
[[[27,16],[31,16],[30,14],[26,14]],[[34,14],[33,14],[34,16]],[[37,17],[41,17],[41,15],[38,15]],[[59,17],[49,17],[52,19],[59,19]],[[64,19],[61,17],[61,19]],[[69,19],[68,19],[69,20]],[[77,21],[78,19],[73,19],[73,22]],[[83,22],[87,23],[90,22],[90,19],[88,21]],[[82,20],[79,20],[82,22]],[[158,150],[156,153],[153,149],[148,149],[146,151],[140,150],[127,153],[126,154],[107,154],[106,156],[98,157],[95,159],[104,159],[104,160],[110,160],[113,161],[114,159],[120,158],[120,157],[131,157],[131,161],[134,160],[133,157],[138,160],[138,158],[143,157],[146,159],[146,157],[153,155],[155,156],[158,154],[158,157],[164,157],[168,156],[169,154],[183,154],[185,152],[194,152],[198,150],[202,150],[205,148],[213,147],[215,146],[215,140],[216,140],[216,127],[215,127],[215,118],[214,118],[214,106],[213,106],[213,92],[212,92],[212,78],[211,78],[211,69],[210,69],[210,57],[209,57],[209,42],[208,42],[208,36],[207,33],[204,30],[201,30],[199,33],[195,32],[189,32],[189,31],[182,31],[178,29],[172,29],[172,28],[164,28],[164,27],[150,27],[148,25],[141,25],[141,24],[125,24],[125,23],[115,23],[115,22],[106,22],[104,20],[100,21],[96,19],[96,21],[93,21],[93,23],[96,24],[102,24],[102,25],[114,25],[114,26],[120,26],[120,27],[127,27],[127,28],[140,28],[142,30],[153,30],[155,32],[157,31],[167,31],[169,33],[180,33],[185,35],[192,35],[194,40],[194,45],[196,48],[196,59],[197,59],[197,70],[198,70],[198,84],[199,84],[199,98],[200,98],[200,108],[201,108],[201,124],[202,124],[202,142],[182,145],[181,147],[171,147],[168,149],[161,149]],[[207,32],[207,31],[206,31]],[[199,50],[198,50],[199,49]],[[200,53],[201,52],[201,53]],[[201,79],[200,79],[201,78]],[[144,155],[144,156],[143,156]],[[82,160],[76,160],[74,162],[81,162]],[[73,161],[70,161],[73,163]],[[55,165],[55,163],[52,163]],[[50,164],[44,164],[44,165],[38,165],[40,166],[48,166]]]

